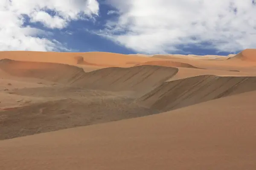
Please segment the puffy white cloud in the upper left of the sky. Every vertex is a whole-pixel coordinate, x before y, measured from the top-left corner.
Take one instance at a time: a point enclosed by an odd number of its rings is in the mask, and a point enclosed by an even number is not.
[[[67,50],[56,40],[39,38],[48,33],[24,26],[25,18],[30,23],[61,29],[72,20],[93,18],[98,11],[96,0],[0,0],[0,51]]]

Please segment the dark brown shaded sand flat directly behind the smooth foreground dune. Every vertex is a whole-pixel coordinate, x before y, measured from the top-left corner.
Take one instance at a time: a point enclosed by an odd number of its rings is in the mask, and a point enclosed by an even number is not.
[[[87,93],[93,97],[71,97],[1,112],[0,140],[158,113],[134,103],[133,99],[98,91]]]

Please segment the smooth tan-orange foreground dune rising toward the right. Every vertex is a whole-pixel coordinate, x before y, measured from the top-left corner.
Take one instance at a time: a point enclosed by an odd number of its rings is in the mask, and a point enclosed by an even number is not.
[[[0,141],[1,170],[254,170],[256,92]]]

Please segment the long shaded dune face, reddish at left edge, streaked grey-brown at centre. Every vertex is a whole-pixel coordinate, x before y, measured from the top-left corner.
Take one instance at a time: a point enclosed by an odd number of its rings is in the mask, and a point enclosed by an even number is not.
[[[106,91],[137,91],[144,93],[174,76],[178,69],[154,65],[131,68],[103,68],[85,73],[76,66],[0,60],[0,68],[13,76],[46,79],[79,88]]]

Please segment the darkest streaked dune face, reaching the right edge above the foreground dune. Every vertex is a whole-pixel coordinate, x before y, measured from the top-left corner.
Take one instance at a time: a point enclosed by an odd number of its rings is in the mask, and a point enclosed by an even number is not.
[[[164,82],[138,99],[138,102],[159,111],[170,111],[254,90],[256,90],[256,77],[204,75]]]

